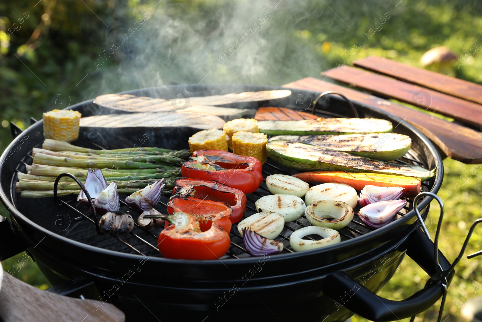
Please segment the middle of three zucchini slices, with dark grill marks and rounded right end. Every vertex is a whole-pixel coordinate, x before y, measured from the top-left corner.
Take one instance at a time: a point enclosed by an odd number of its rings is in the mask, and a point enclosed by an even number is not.
[[[342,135],[278,135],[269,139],[300,142],[342,151],[370,159],[390,161],[401,158],[412,146],[409,136],[397,133],[342,134]]]

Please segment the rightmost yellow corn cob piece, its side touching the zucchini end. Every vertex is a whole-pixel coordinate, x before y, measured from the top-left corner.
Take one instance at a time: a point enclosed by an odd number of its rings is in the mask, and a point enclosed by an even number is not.
[[[263,133],[239,131],[233,134],[233,153],[254,156],[262,164],[266,162],[268,137]]]

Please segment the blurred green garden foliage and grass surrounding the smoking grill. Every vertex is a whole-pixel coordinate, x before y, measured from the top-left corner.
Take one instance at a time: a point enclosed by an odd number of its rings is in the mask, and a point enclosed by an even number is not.
[[[216,57],[264,12],[269,19],[256,37],[216,68]],[[144,30],[136,31],[114,54],[99,60],[145,14],[151,20],[142,25]],[[470,54],[474,44],[482,44],[481,34],[482,2],[476,0],[369,0],[356,4],[333,0],[3,1],[0,149],[11,140],[10,121],[26,128],[30,117],[40,119],[42,112],[54,108],[171,81],[197,84],[205,77],[203,84],[283,84],[319,77],[321,70],[351,65],[370,55],[419,66],[424,52],[445,45],[460,57],[455,76],[482,84],[481,50]],[[446,214],[440,248],[453,260],[469,225],[481,216],[482,171],[480,166],[450,159],[444,160],[444,166],[439,196],[444,199]],[[3,207],[0,211],[8,215]],[[428,223],[432,220],[438,220],[436,203]],[[434,236],[435,224],[429,229]],[[476,231],[467,252],[480,249],[482,234]],[[31,258],[19,265],[25,256],[3,261],[4,269],[27,283],[49,287]],[[460,306],[470,298],[471,290],[482,286],[481,268],[478,258],[463,258],[456,267],[444,321],[460,320]],[[426,280],[422,269],[407,257],[380,295],[401,300],[421,289]],[[439,304],[415,321],[436,321]],[[354,316],[352,321],[366,320]]]

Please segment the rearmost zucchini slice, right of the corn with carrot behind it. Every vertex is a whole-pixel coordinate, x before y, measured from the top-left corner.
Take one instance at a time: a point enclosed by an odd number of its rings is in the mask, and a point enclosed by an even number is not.
[[[318,118],[299,121],[259,121],[260,132],[269,135],[320,135],[391,132],[390,121],[376,118]]]

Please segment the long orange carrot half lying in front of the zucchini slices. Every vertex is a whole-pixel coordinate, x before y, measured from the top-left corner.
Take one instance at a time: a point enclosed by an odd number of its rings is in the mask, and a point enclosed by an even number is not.
[[[306,182],[346,183],[355,190],[362,190],[365,185],[377,187],[402,187],[404,197],[413,197],[420,193],[420,179],[394,176],[381,173],[343,172],[343,171],[310,171],[293,175]]]

